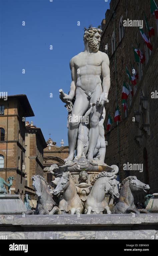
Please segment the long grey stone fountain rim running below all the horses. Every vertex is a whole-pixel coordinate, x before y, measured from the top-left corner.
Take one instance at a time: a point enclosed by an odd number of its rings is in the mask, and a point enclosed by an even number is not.
[[[0,215],[7,239],[156,239],[158,214]]]

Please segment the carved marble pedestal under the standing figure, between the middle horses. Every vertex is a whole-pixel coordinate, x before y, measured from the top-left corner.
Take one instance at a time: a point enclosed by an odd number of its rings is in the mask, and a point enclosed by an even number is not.
[[[50,173],[55,176],[55,180],[52,181],[52,186],[56,187],[63,173],[70,173],[71,178],[73,179],[77,194],[79,195],[83,208],[85,208],[87,196],[89,195],[92,186],[94,184],[93,179],[95,179],[96,175],[101,174],[102,172],[111,173],[115,175],[118,173],[119,169],[117,165],[108,166],[105,163],[98,161],[90,161],[86,158],[82,157],[79,160],[67,161],[62,166],[57,166],[53,164],[49,168]],[[55,191],[57,192],[57,191]],[[113,206],[113,199],[106,192],[105,200],[107,201],[107,205],[109,204],[110,208]]]

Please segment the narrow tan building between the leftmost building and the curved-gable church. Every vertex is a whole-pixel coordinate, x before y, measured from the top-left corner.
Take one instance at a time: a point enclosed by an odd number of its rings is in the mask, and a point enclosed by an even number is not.
[[[33,125],[33,122],[25,123],[25,192],[32,199],[35,198],[35,191],[32,187],[33,175],[41,175],[43,177],[43,149],[47,147],[40,128]]]

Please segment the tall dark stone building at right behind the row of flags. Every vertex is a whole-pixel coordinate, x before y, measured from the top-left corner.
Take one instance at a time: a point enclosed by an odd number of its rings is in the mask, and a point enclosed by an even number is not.
[[[138,27],[123,26],[123,20],[128,18],[143,20],[143,31],[148,36],[144,11],[149,26],[155,30],[155,36],[149,39],[153,46],[152,52],[147,48]],[[158,192],[158,99],[152,98],[151,93],[158,91],[158,22],[150,13],[150,0],[112,0],[110,9],[106,11],[105,19],[102,20],[102,30],[100,51],[109,56],[111,76],[109,103],[106,103],[105,130],[108,114],[113,119],[111,130],[105,132],[108,143],[105,162],[108,165],[119,166],[121,182],[125,177],[135,175],[142,182],[150,185],[149,193],[156,193]],[[146,61],[143,64],[135,62],[133,47],[137,48],[137,44],[145,54]],[[132,75],[131,64],[138,73],[139,79],[136,86],[131,84],[134,96],[128,96],[127,110],[124,112],[121,99],[122,87],[123,82],[129,83],[125,66]],[[121,113],[121,121],[118,124],[114,123],[117,105]],[[124,164],[127,163],[143,164],[143,171],[123,170]],[[145,193],[137,194],[135,200],[144,201],[144,195]]]

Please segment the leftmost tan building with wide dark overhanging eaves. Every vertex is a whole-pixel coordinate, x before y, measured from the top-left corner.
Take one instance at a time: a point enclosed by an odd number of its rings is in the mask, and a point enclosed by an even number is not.
[[[0,176],[13,176],[11,193],[24,199],[25,117],[34,116],[26,95],[0,98]]]

